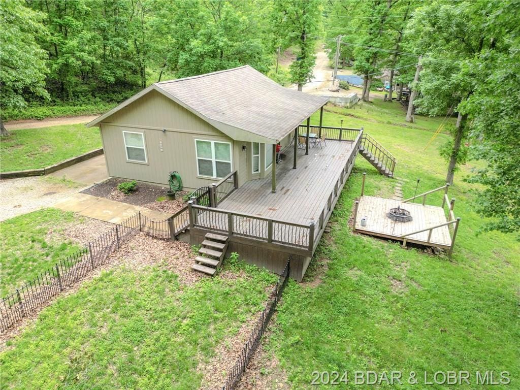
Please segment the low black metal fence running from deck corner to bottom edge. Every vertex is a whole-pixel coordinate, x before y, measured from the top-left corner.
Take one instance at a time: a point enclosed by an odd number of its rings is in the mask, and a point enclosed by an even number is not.
[[[287,262],[287,264],[285,264],[285,268],[283,269],[282,275],[280,275],[280,278],[276,283],[275,289],[271,292],[271,295],[269,296],[269,301],[264,311],[262,311],[262,315],[256,322],[255,327],[253,328],[253,331],[249,336],[249,340],[245,343],[242,352],[240,353],[240,356],[237,362],[235,363],[235,366],[233,366],[233,368],[231,369],[231,372],[229,373],[226,379],[226,383],[224,384],[224,386],[222,386],[222,390],[235,390],[238,384],[240,383],[242,375],[244,374],[246,367],[248,367],[248,363],[251,357],[255,353],[256,348],[258,348],[258,345],[260,344],[260,340],[262,339],[262,335],[264,334],[267,328],[267,324],[269,323],[269,320],[275,312],[276,304],[278,303],[278,301],[280,301],[283,289],[285,289],[285,285],[287,285],[290,271],[289,264],[289,261]]]

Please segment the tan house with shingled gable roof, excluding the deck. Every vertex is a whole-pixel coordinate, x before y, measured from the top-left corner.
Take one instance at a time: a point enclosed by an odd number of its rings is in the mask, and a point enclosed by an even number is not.
[[[238,185],[271,173],[272,146],[286,146],[326,97],[284,88],[250,66],[154,83],[87,127],[99,126],[112,177],[185,189],[232,171]]]

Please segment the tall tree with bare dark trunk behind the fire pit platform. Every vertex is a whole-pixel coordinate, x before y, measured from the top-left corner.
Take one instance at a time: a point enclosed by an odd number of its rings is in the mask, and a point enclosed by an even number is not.
[[[440,2],[425,5],[415,11],[408,34],[415,38],[417,51],[426,58],[421,62],[421,80],[417,85],[421,96],[415,101],[418,111],[444,115],[453,108],[458,112],[457,126],[450,141],[446,183],[461,163],[464,135],[467,134],[467,101],[476,87],[471,60],[492,49],[490,37],[480,28],[485,15],[473,13],[473,2]]]

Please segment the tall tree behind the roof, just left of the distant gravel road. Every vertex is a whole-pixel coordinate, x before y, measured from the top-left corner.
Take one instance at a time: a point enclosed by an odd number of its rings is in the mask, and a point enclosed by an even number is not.
[[[298,90],[313,77],[321,12],[321,0],[277,0],[272,9],[273,32],[283,39],[282,48],[297,48],[290,73]]]

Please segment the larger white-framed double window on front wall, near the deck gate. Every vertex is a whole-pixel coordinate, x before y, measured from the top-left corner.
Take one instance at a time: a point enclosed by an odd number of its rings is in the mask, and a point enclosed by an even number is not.
[[[224,177],[231,173],[229,142],[195,140],[199,176]]]

